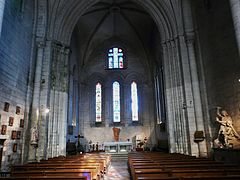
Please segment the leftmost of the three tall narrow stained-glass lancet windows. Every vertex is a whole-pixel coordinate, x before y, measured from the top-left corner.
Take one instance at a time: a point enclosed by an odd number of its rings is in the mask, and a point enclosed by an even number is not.
[[[102,85],[96,85],[96,122],[102,122]]]

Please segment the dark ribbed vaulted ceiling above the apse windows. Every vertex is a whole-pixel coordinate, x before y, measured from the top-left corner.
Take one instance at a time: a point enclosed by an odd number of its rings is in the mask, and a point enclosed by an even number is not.
[[[124,44],[147,56],[156,31],[151,16],[133,1],[102,0],[80,17],[72,40],[77,42],[78,59],[84,65],[106,42]]]

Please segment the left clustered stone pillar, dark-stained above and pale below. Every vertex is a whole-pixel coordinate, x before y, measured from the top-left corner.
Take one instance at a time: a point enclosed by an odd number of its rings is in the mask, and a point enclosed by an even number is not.
[[[46,157],[66,154],[69,49],[52,43],[48,152]]]

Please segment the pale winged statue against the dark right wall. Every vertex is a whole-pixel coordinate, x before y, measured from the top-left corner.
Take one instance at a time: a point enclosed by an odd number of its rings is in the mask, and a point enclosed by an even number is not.
[[[217,107],[216,121],[220,123],[217,140],[223,146],[233,145],[233,142],[230,143],[231,140],[240,140],[240,135],[233,127],[231,116],[221,107]]]

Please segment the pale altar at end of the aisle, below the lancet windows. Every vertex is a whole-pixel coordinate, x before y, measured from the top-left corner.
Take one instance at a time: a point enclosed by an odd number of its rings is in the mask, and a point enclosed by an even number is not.
[[[132,142],[104,142],[104,150],[107,153],[128,153],[132,150]]]

